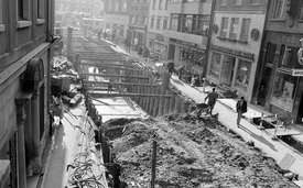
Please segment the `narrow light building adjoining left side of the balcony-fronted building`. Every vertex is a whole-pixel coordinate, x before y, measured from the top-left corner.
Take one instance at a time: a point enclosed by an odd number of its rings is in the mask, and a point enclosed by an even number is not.
[[[145,46],[160,59],[167,59],[170,37],[163,35],[163,31],[169,29],[170,12],[167,7],[169,0],[150,1]]]

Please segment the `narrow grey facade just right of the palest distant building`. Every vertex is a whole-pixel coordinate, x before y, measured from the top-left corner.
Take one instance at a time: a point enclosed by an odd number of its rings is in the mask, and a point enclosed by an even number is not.
[[[149,0],[131,0],[128,30],[128,38],[131,43],[138,38],[138,45],[145,46],[149,5]]]

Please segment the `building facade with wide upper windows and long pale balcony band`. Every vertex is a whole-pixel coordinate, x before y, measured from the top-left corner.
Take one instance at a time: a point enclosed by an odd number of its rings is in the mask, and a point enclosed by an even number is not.
[[[170,38],[167,58],[194,74],[202,75],[206,65],[212,3],[213,0],[171,0],[167,4],[170,26],[163,32]]]

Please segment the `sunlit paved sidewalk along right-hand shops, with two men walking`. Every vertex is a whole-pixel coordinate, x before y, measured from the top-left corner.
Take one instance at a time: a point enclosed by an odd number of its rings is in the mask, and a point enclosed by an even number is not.
[[[191,99],[201,103],[204,102],[207,93],[198,90],[201,88],[193,88],[187,84],[178,80],[177,76],[173,75],[171,78],[171,84],[181,90],[184,95],[188,96]],[[206,90],[210,90],[208,87]],[[303,155],[299,154],[296,151],[285,145],[281,141],[273,141],[271,135],[267,134],[264,131],[259,130],[256,125],[251,124],[248,120],[241,120],[241,126],[237,128],[236,119],[237,113],[232,107],[235,107],[235,100],[232,99],[219,99],[216,103],[213,113],[219,113],[218,120],[226,126],[228,126],[234,132],[240,134],[246,141],[253,141],[255,145],[261,148],[269,156],[273,157],[278,163],[282,161],[285,154],[290,154],[295,157],[295,162],[291,165],[290,170],[299,174],[303,180]],[[230,107],[231,106],[231,107]],[[260,112],[249,108],[252,115],[260,114]]]

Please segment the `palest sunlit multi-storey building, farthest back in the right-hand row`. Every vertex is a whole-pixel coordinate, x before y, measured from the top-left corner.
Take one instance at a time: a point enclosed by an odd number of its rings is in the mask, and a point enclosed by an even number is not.
[[[108,34],[116,33],[118,38],[126,38],[129,30],[130,0],[105,0],[104,26]]]

